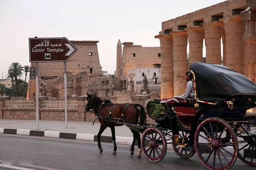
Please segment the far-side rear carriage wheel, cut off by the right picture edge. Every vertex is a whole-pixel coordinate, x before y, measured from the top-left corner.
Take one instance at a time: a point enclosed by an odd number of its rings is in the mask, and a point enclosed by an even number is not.
[[[256,116],[248,116],[245,119],[252,121],[234,125],[234,131],[238,137],[238,158],[245,164],[256,167],[256,134],[250,134],[249,127],[255,127]]]

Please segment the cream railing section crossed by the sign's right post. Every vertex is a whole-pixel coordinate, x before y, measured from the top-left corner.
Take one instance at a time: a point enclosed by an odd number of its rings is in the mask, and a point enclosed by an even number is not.
[[[68,99],[68,108],[77,109],[77,99]],[[54,99],[54,100],[44,100],[42,102],[42,107],[44,108],[65,108],[65,100]]]

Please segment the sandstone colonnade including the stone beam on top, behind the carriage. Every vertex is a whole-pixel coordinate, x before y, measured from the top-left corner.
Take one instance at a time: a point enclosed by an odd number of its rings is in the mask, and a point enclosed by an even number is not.
[[[161,98],[175,94],[183,82],[189,66],[194,62],[202,62],[202,47],[205,40],[206,63],[223,64],[236,72],[245,74],[256,82],[256,0],[227,0],[195,12],[164,21],[162,30],[155,38],[160,39],[161,51],[166,47],[172,50],[170,67],[162,68],[170,74],[172,80],[169,90],[161,87]],[[162,37],[170,36],[172,41],[164,41]],[[163,43],[165,42],[165,43]],[[189,58],[186,60],[186,43],[189,42]],[[166,44],[167,43],[167,44]],[[221,44],[223,51],[221,51]],[[163,53],[163,52],[162,52]],[[165,66],[165,60],[161,65]],[[170,77],[168,77],[170,78]],[[162,81],[166,77],[162,77]],[[172,91],[172,93],[170,93]]]

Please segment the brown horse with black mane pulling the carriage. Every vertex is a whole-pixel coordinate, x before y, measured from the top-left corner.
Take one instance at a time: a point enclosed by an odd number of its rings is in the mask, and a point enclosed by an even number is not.
[[[100,136],[103,133],[103,131],[109,127],[111,128],[112,133],[112,140],[114,142],[114,151],[113,154],[116,154],[116,135],[115,135],[115,126],[121,126],[123,123],[116,123],[116,122],[110,122],[111,118],[116,118],[119,120],[119,122],[127,122],[129,124],[137,124],[139,117],[140,122],[139,124],[142,126],[145,124],[145,109],[140,104],[114,104],[111,103],[109,100],[103,102],[102,99],[98,98],[96,96],[96,93],[94,95],[89,95],[87,93],[87,99],[86,99],[86,111],[90,111],[90,109],[93,109],[95,115],[97,118],[99,118],[99,122],[101,124],[99,128],[99,133],[97,135],[98,137],[98,147],[99,152],[101,153],[103,149],[101,148],[100,143]],[[110,121],[108,121],[110,120]],[[137,157],[141,157],[141,148],[140,148],[140,133],[136,132],[135,130],[130,129],[133,133],[133,141],[132,146],[130,148],[130,154],[134,154],[134,144],[135,140],[138,142],[138,153]]]

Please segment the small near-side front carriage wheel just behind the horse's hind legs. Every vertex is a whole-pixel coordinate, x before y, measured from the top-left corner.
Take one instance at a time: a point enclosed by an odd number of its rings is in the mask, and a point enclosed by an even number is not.
[[[155,127],[144,130],[141,137],[143,155],[151,162],[159,162],[165,157],[167,144],[165,136]]]

